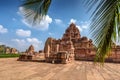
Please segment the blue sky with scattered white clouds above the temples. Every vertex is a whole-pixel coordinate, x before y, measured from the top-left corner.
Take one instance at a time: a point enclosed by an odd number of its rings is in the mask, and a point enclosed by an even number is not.
[[[21,15],[20,0],[0,0],[0,44],[25,51],[31,44],[44,48],[48,37],[59,39],[71,22],[89,37],[89,14],[81,0],[52,0],[43,24],[31,26]]]

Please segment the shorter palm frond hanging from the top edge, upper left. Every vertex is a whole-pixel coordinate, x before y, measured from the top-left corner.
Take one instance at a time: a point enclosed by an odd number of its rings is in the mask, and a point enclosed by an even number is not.
[[[38,24],[47,14],[51,0],[24,0],[21,5],[24,18],[31,24]]]

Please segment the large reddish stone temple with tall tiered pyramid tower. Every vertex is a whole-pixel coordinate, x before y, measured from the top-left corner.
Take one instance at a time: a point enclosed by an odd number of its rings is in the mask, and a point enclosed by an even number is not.
[[[47,62],[68,63],[74,58],[82,58],[85,57],[85,54],[91,53],[92,55],[94,52],[92,40],[88,40],[86,37],[81,38],[79,29],[74,23],[71,23],[66,29],[62,39],[48,38],[44,48]]]

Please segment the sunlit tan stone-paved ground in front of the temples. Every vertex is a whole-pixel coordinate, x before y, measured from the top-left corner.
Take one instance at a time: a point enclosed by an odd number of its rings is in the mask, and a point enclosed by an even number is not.
[[[0,80],[120,80],[120,64],[74,61],[70,64],[0,59]]]

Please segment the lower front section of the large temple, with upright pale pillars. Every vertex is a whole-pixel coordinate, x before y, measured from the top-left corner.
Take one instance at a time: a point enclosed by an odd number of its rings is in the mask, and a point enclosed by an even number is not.
[[[63,45],[64,44],[64,45]],[[46,62],[68,63],[74,60],[74,47],[71,41],[61,43],[60,40],[48,38],[44,48]]]

